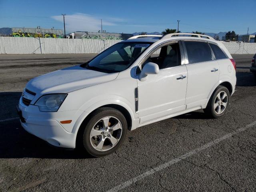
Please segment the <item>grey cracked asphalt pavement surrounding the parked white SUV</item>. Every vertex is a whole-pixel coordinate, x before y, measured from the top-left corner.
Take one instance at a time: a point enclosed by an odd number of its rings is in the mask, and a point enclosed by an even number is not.
[[[93,56],[0,55],[0,191],[256,191],[253,55],[233,55],[237,87],[222,118],[198,110],[137,128],[103,158],[48,146],[15,109],[31,78]]]

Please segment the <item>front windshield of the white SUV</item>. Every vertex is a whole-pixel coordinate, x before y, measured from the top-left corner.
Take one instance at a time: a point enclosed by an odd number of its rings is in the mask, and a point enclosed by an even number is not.
[[[150,44],[148,42],[117,43],[87,62],[84,67],[107,73],[121,72],[126,70]]]

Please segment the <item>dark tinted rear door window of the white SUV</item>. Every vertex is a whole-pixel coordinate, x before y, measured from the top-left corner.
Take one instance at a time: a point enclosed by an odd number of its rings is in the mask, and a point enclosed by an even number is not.
[[[189,63],[199,63],[212,60],[211,49],[206,42],[184,41]]]

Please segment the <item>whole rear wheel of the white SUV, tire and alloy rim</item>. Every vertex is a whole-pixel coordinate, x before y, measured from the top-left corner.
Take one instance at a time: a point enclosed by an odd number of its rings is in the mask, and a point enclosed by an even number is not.
[[[223,116],[228,108],[230,93],[224,86],[218,86],[212,94],[204,112],[214,118]]]

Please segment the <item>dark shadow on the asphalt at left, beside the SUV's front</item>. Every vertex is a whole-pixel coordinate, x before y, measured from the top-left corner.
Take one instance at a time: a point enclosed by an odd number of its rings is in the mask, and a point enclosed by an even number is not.
[[[64,150],[26,132],[17,118],[16,105],[22,92],[0,92],[0,158],[92,158],[78,150]]]

